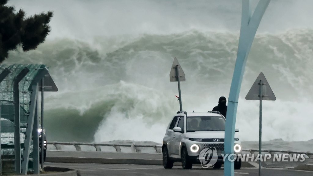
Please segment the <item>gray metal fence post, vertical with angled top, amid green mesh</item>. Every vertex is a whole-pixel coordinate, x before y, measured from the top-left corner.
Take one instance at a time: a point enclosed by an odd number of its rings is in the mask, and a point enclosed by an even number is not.
[[[21,136],[20,136],[20,104],[19,104],[19,86],[18,83],[26,76],[29,69],[25,67],[18,75],[14,78],[13,84],[13,96],[14,96],[14,153],[15,153],[15,172],[21,173]]]

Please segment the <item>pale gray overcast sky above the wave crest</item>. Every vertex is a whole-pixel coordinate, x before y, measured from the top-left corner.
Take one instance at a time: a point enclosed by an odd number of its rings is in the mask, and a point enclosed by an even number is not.
[[[252,6],[257,0],[251,0]],[[49,38],[168,34],[187,30],[239,31],[241,0],[10,0],[27,15],[54,11]],[[259,33],[313,28],[313,1],[272,0]]]

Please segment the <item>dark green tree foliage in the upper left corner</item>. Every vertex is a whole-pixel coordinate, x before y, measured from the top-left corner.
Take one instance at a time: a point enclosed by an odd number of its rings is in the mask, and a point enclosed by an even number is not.
[[[35,14],[25,19],[20,9],[15,13],[12,6],[5,5],[8,0],[0,0],[0,63],[8,58],[8,51],[22,46],[23,51],[36,49],[51,31],[49,22],[52,12]]]

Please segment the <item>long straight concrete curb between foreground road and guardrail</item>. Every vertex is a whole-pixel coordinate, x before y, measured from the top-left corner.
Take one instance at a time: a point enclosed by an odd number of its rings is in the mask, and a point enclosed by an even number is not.
[[[163,165],[162,159],[122,159],[122,158],[85,158],[85,157],[48,157],[48,156],[46,158],[46,162]],[[174,165],[181,166],[182,164],[180,162],[175,162]],[[199,166],[201,165],[199,164]],[[242,162],[241,167],[255,168],[256,166],[254,164],[251,164],[250,162]]]

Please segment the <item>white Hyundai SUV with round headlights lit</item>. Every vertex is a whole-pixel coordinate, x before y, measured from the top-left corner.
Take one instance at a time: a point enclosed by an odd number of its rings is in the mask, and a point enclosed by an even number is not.
[[[236,130],[238,132],[239,130]],[[191,169],[193,163],[200,163],[199,154],[203,149],[215,147],[217,162],[213,168],[221,168],[224,153],[225,118],[219,112],[188,113],[178,111],[167,126],[163,138],[163,166],[172,168],[175,161],[182,162],[183,169]],[[235,136],[234,151],[241,153],[241,143]],[[234,168],[240,169],[241,160],[235,161]]]

